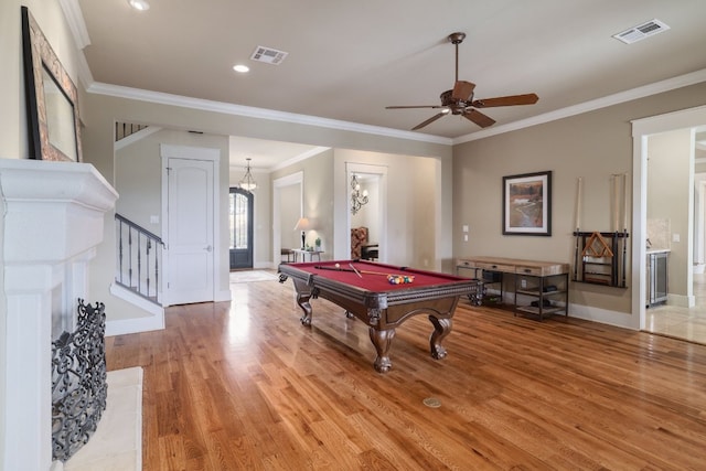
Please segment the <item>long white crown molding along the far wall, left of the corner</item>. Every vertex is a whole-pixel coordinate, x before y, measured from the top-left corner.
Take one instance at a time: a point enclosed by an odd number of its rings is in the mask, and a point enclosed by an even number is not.
[[[320,118],[317,116],[298,115],[295,113],[277,111],[274,109],[256,108],[252,106],[234,105],[222,101],[213,101],[201,98],[191,98],[180,95],[165,94],[161,92],[150,92],[139,88],[110,85],[99,82],[92,83],[86,87],[87,93],[96,95],[107,95],[118,98],[137,99],[140,101],[156,103],[160,105],[172,105],[183,108],[200,109],[204,111],[223,113],[225,115],[245,116],[248,118],[268,119],[272,121],[285,121],[306,126],[315,126],[343,131],[362,132],[367,135],[384,136],[397,139],[416,140],[422,142],[440,143],[451,146],[452,139],[440,136],[424,135],[419,132],[402,131],[399,129],[384,128],[379,126],[361,125],[357,122],[341,121],[338,119]]]

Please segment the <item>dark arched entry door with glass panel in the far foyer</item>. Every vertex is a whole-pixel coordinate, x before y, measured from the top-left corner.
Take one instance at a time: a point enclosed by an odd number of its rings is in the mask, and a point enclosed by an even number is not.
[[[232,188],[228,206],[231,269],[253,268],[253,193]]]

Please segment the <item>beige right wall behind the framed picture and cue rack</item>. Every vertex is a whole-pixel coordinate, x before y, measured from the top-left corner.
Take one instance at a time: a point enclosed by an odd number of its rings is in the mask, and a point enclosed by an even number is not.
[[[704,104],[706,84],[693,85],[454,146],[454,255],[504,255],[574,265],[577,179],[584,179],[581,231],[610,231],[611,175],[632,175],[630,121]],[[545,170],[554,172],[552,237],[503,236],[503,175]],[[470,226],[468,243],[462,238],[463,224]],[[632,290],[571,283],[569,298],[581,307],[630,313]]]

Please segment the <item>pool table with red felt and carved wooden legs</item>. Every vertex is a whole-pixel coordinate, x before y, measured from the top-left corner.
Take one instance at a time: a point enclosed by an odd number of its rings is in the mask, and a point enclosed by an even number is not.
[[[477,279],[366,260],[332,260],[279,266],[279,282],[291,278],[297,303],[303,311],[301,323],[311,325],[310,300],[328,299],[340,306],[349,318],[368,325],[371,341],[377,351],[375,370],[387,373],[392,367],[389,347],[395,329],[407,319],[427,314],[434,325],[429,339],[431,356],[447,354],[441,341],[451,332],[451,318],[459,297],[473,297],[481,290]],[[388,276],[397,277],[395,285]]]

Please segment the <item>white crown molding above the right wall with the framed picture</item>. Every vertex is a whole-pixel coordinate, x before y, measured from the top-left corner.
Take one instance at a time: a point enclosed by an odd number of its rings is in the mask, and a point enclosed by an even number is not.
[[[600,108],[607,108],[609,106],[619,105],[621,103],[630,101],[638,98],[644,98],[646,96],[670,92],[694,84],[699,84],[702,82],[706,82],[706,68],[692,72],[691,74],[680,75],[678,77],[667,78],[666,81],[655,82],[654,84],[644,85],[642,87],[633,88],[630,90],[608,95],[602,98],[597,98],[590,101],[585,101],[578,105],[557,109],[556,111],[545,113],[544,115],[533,116],[532,118],[521,119],[518,121],[509,122],[507,125],[498,126],[491,129],[483,129],[478,132],[461,136],[453,139],[453,146],[463,142],[470,142],[473,140],[484,139],[491,136],[502,135],[504,132],[516,131],[518,129],[528,128],[531,126],[556,121],[557,119],[581,115],[584,113],[593,111]]]

